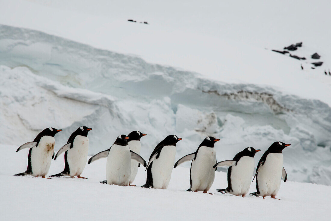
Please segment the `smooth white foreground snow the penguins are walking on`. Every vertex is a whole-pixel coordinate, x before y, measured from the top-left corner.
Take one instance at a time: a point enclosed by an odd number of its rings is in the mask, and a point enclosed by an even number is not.
[[[226,173],[216,172],[209,195],[186,192],[189,169],[173,170],[167,190],[99,184],[105,178],[106,159],[86,165],[89,179],[15,177],[26,169],[28,150],[0,145],[0,213],[3,220],[329,220],[330,186],[281,183],[281,200],[219,194]],[[10,160],[8,160],[10,159]],[[50,174],[62,171],[63,155],[52,161]],[[138,168],[135,184],[146,173]],[[291,180],[291,177],[289,177]],[[255,192],[255,182],[250,191]]]

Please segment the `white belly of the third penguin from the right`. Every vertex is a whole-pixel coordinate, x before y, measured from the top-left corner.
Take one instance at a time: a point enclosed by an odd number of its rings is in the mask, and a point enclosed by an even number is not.
[[[215,163],[215,148],[201,146],[191,165],[192,191],[208,191],[211,188],[215,178]]]

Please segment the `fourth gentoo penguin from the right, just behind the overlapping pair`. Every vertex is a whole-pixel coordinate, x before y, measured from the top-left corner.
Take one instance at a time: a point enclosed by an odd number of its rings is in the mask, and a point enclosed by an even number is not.
[[[146,183],[141,187],[155,189],[168,187],[172,165],[175,162],[176,143],[181,139],[176,135],[169,135],[156,145],[146,167]]]

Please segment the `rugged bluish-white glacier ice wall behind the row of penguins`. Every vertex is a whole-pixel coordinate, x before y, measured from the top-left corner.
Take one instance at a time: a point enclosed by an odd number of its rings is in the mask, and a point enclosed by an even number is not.
[[[281,140],[292,144],[283,151],[290,180],[331,185],[331,108],[319,100],[217,82],[4,25],[0,65],[1,143],[20,145],[52,126],[64,129],[56,137],[58,149],[86,125],[93,128],[90,154],[109,148],[119,134],[139,130],[148,134],[141,140],[145,159],[169,134],[183,138],[179,158],[212,135],[221,139],[215,145],[220,161],[247,146],[265,151]]]

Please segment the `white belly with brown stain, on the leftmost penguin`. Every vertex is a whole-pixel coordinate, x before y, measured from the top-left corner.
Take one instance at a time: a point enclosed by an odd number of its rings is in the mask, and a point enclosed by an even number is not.
[[[55,139],[51,136],[44,136],[40,139],[38,146],[31,150],[32,176],[46,176],[51,166],[54,152]]]

